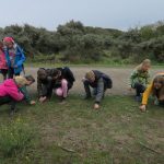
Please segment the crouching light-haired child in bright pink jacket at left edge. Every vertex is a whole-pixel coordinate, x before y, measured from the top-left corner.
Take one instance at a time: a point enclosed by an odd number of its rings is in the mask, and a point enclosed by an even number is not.
[[[25,84],[27,81],[23,77],[8,79],[0,84],[0,105],[11,103],[11,115],[15,112],[16,102],[21,102],[24,97],[19,89]]]

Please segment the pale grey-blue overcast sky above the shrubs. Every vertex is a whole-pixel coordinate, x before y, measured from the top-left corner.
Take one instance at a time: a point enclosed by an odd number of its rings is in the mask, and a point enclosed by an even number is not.
[[[56,31],[74,20],[127,31],[164,21],[164,0],[2,0],[0,5],[0,27],[27,23]]]

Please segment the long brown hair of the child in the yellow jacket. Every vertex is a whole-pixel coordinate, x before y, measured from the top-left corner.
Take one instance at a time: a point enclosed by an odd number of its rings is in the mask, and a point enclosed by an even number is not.
[[[154,83],[160,83],[162,85],[159,91],[154,87]],[[156,75],[153,80],[153,92],[152,93],[154,96],[159,97],[162,94],[162,92],[164,93],[164,77]]]

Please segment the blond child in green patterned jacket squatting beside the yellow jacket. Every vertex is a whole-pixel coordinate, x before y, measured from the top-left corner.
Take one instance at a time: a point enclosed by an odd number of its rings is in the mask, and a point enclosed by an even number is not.
[[[145,59],[133,70],[133,72],[130,75],[130,87],[136,90],[137,102],[141,101],[141,93],[144,92],[148,84],[150,83],[150,67],[151,61],[149,59]]]

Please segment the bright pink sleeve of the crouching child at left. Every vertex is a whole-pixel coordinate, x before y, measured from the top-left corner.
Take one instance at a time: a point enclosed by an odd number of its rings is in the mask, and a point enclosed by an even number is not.
[[[13,99],[16,102],[20,102],[23,99],[24,95],[19,91],[19,89],[15,87],[10,87],[8,95],[11,96]]]

